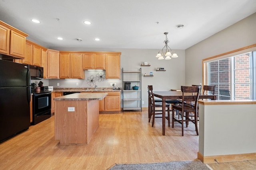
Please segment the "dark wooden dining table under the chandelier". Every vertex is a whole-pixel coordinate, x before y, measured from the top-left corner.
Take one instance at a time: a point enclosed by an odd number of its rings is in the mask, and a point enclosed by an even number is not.
[[[162,99],[162,134],[165,135],[165,113],[166,113],[166,100],[182,99],[181,91],[154,91],[154,96]],[[191,96],[191,93],[184,93],[185,96]],[[217,95],[200,94],[199,99],[216,100]]]

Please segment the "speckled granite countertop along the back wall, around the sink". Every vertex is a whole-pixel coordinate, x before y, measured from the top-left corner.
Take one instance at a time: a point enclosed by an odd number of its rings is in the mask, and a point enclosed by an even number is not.
[[[122,90],[113,90],[113,88],[54,88],[51,92],[121,92]]]

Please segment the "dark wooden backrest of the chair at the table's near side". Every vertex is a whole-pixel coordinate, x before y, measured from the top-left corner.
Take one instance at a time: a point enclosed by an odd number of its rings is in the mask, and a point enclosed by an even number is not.
[[[197,101],[200,94],[201,86],[181,86],[182,91],[182,107],[184,104],[192,102],[197,108]],[[186,96],[184,93],[192,93],[192,95]]]

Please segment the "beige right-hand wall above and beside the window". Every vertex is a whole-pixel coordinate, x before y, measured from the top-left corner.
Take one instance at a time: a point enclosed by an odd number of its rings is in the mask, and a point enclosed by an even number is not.
[[[255,30],[256,13],[186,49],[186,85],[202,83],[202,59],[255,44]]]

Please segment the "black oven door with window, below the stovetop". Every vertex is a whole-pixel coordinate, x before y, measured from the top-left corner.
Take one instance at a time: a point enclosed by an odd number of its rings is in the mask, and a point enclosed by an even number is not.
[[[33,95],[33,114],[48,111],[51,109],[51,92],[38,93]]]

